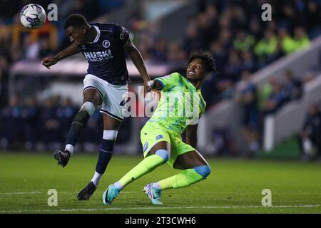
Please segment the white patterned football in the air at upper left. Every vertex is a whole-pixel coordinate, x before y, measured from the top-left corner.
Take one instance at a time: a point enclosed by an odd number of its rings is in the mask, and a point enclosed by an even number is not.
[[[26,28],[40,28],[46,21],[46,11],[37,4],[26,5],[21,9],[20,21]]]

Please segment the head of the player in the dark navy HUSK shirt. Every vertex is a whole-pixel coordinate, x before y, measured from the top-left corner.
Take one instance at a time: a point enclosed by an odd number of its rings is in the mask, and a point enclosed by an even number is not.
[[[86,32],[91,26],[88,24],[86,18],[81,14],[71,14],[65,21],[63,28],[70,41],[77,45],[86,43]]]

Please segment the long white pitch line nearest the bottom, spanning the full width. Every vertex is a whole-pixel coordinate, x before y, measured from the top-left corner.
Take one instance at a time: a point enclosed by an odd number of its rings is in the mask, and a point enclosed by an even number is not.
[[[321,205],[275,205],[263,206],[200,206],[200,207],[114,207],[114,208],[71,208],[71,209],[37,209],[37,210],[2,210],[0,213],[28,213],[28,212],[94,212],[94,211],[121,211],[121,210],[146,210],[146,209],[249,209],[249,208],[287,208],[287,207],[321,207]]]

